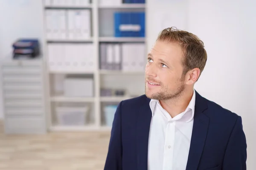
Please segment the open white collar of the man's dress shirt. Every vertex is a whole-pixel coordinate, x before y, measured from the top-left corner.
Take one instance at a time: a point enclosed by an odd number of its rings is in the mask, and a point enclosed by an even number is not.
[[[154,111],[155,111],[155,107],[157,106],[157,103],[162,108],[162,106],[160,105],[160,102],[156,99],[151,99],[150,102],[149,102],[149,107],[150,107],[151,112],[152,112],[152,117],[154,116]],[[189,109],[192,110],[192,115],[186,122],[189,122],[194,118],[194,114],[195,114],[195,89],[193,90],[193,96],[192,96],[192,99],[189,102],[189,105],[187,106],[186,110],[184,112],[180,113],[180,114],[187,113],[187,111],[189,111]]]

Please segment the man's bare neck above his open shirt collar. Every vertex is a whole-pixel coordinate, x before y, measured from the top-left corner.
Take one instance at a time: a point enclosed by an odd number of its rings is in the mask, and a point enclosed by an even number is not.
[[[173,118],[186,110],[186,108],[189,105],[189,102],[192,99],[193,91],[194,91],[194,89],[183,91],[183,93],[175,99],[160,100],[159,102],[160,102],[161,106]]]

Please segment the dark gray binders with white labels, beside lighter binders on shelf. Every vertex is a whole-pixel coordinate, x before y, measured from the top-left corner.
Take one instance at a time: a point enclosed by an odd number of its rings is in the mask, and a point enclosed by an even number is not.
[[[100,68],[121,70],[121,45],[118,43],[100,44]]]

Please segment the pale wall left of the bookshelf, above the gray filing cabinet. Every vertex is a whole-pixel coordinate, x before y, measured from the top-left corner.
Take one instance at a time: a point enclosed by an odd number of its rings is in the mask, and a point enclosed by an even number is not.
[[[12,52],[12,43],[18,38],[38,38],[43,51],[43,26],[42,0],[0,0],[0,59]],[[1,118],[3,118],[2,91],[0,91]]]

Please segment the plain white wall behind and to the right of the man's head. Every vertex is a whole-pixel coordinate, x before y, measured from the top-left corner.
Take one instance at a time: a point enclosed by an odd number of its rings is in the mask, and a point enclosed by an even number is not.
[[[195,88],[242,116],[248,170],[256,169],[255,7],[255,0],[148,0],[147,16],[148,49],[161,24],[185,29],[204,41],[208,60]]]

